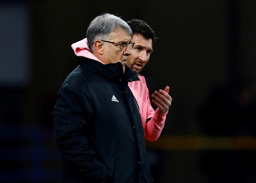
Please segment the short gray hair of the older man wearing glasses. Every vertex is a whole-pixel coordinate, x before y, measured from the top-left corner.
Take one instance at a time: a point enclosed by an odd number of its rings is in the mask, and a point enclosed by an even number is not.
[[[107,40],[110,33],[119,28],[124,29],[130,36],[132,36],[132,29],[120,17],[110,13],[103,13],[100,16],[95,17],[89,24],[86,34],[91,52],[94,50],[94,42],[96,40]]]

